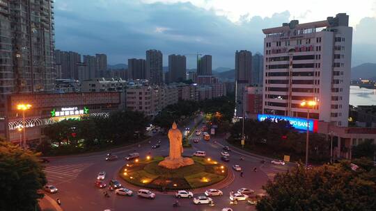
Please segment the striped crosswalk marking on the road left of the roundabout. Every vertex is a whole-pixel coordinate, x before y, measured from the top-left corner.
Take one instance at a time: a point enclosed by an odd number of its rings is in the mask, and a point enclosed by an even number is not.
[[[82,170],[90,165],[90,163],[83,163],[47,166],[44,171],[49,183],[61,183],[76,178]]]

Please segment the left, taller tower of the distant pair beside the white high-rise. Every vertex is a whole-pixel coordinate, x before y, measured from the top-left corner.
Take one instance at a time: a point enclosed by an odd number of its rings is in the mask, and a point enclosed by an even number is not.
[[[237,83],[251,83],[252,53],[251,51],[235,52],[235,81]]]

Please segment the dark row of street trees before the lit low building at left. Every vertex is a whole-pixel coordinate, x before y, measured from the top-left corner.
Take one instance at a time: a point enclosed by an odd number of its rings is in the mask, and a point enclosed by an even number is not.
[[[109,117],[59,121],[44,129],[52,144],[42,142],[37,150],[47,155],[67,154],[136,142],[149,121],[143,112],[129,110],[111,112]]]

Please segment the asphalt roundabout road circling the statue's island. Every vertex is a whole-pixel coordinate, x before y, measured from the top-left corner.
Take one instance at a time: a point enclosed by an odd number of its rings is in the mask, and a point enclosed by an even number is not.
[[[201,117],[196,118],[198,121]],[[194,121],[191,121],[188,126],[192,128]],[[182,127],[184,132],[185,127]],[[200,138],[201,140],[194,144],[192,149],[185,149],[183,155],[192,155],[194,151],[206,151],[207,157],[221,162],[220,152],[224,144],[224,137],[212,137],[210,141],[202,139],[202,135],[193,135],[192,138]],[[162,140],[162,146],[159,149],[151,149],[157,140]],[[214,143],[214,141],[216,143]],[[51,162],[47,164],[45,172],[49,184],[55,185],[58,188],[58,193],[47,194],[52,199],[61,199],[61,208],[63,210],[221,210],[228,207],[233,210],[255,210],[254,205],[248,205],[246,201],[240,201],[237,205],[230,205],[229,192],[241,187],[249,187],[256,190],[256,193],[262,192],[261,187],[265,185],[268,179],[273,179],[274,174],[286,171],[287,167],[276,166],[273,164],[261,164],[259,158],[249,155],[241,155],[236,151],[230,151],[230,162],[225,164],[231,169],[233,164],[239,164],[244,170],[244,176],[240,177],[239,172],[235,172],[235,179],[230,185],[222,188],[224,196],[214,196],[214,206],[209,205],[194,205],[192,199],[179,199],[181,207],[173,208],[172,204],[175,202],[175,197],[171,194],[164,194],[153,191],[157,194],[156,199],[141,199],[136,196],[137,189],[132,189],[133,196],[117,196],[113,192],[109,192],[110,197],[106,198],[103,195],[103,190],[94,186],[97,174],[100,171],[106,171],[107,176],[104,182],[108,185],[109,180],[118,178],[118,170],[126,163],[123,159],[127,154],[138,152],[142,157],[146,157],[147,153],[151,151],[151,155],[168,155],[169,140],[166,135],[155,135],[151,139],[151,143],[142,144],[141,147],[133,146],[126,149],[113,150],[113,155],[118,155],[118,160],[106,161],[104,160],[106,152],[91,153],[87,155],[72,155],[59,158],[50,158]],[[240,160],[243,157],[244,160]],[[254,172],[253,168],[257,167],[258,171]],[[233,170],[231,170],[233,171]],[[123,186],[127,187],[127,183],[118,179]],[[214,185],[215,186],[215,185]],[[208,187],[209,188],[209,187]],[[195,194],[199,196],[203,194]]]

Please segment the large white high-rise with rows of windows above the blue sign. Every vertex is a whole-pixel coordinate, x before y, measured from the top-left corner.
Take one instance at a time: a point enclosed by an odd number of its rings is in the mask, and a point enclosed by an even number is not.
[[[347,126],[350,95],[352,27],[340,13],[326,20],[293,20],[263,29],[263,112],[307,117],[301,101],[317,101],[310,118]]]

